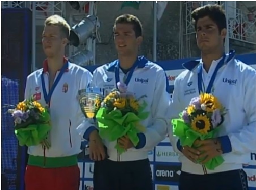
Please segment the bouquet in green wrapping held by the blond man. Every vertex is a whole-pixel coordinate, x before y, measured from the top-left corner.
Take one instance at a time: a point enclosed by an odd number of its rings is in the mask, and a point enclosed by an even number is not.
[[[40,103],[32,98],[20,102],[14,109],[8,109],[8,113],[14,117],[15,135],[19,145],[39,145],[50,147],[46,140],[50,126],[50,114],[48,108],[43,108]]]

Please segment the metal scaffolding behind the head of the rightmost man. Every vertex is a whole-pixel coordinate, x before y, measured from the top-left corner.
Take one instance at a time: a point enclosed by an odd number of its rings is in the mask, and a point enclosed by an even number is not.
[[[191,18],[191,12],[198,7],[208,4],[217,4],[217,1],[202,1],[202,2],[185,2],[185,40],[187,57],[191,56],[191,37],[194,38],[195,29]],[[256,19],[249,20],[248,15],[240,8],[237,8],[237,2],[219,2],[223,6],[227,17],[228,33],[225,40],[225,51],[229,50],[229,40],[250,43],[256,45]],[[182,14],[182,10],[180,12]]]

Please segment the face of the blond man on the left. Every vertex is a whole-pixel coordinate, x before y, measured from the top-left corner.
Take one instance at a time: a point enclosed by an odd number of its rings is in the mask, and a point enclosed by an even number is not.
[[[63,38],[58,26],[46,25],[42,33],[42,47],[47,58],[61,54],[67,45],[67,38]]]

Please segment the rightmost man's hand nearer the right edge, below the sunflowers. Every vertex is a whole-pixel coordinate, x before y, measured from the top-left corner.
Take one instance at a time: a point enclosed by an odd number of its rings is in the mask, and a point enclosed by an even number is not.
[[[200,151],[199,159],[203,159],[200,164],[205,164],[212,158],[223,154],[221,143],[218,139],[196,140],[194,145]]]

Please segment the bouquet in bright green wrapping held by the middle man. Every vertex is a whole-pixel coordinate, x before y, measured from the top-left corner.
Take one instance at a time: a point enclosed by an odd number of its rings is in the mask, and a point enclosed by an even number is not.
[[[127,92],[124,83],[117,83],[118,89],[112,90],[101,103],[101,108],[97,112],[96,119],[99,123],[99,135],[110,142],[118,140],[127,135],[134,146],[138,145],[138,132],[143,132],[145,128],[140,125],[140,121],[148,117],[148,112],[143,112],[147,103]],[[125,149],[116,145],[118,153],[125,152]]]

